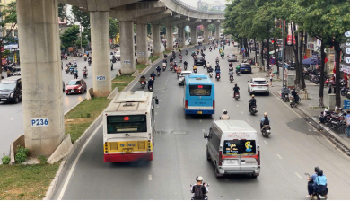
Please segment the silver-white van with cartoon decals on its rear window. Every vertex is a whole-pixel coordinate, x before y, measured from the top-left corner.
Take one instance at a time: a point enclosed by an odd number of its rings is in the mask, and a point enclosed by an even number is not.
[[[213,121],[207,139],[206,159],[212,161],[216,177],[260,173],[260,151],[257,131],[241,120]]]

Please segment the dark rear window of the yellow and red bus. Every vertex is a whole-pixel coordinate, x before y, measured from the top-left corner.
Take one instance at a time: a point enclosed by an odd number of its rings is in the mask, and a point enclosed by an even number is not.
[[[107,116],[107,133],[147,132],[145,115]]]

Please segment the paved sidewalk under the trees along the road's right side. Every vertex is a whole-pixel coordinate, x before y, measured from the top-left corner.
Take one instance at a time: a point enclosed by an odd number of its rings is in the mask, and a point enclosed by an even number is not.
[[[256,77],[266,77],[266,72],[258,72],[259,68],[252,66],[253,76]],[[277,67],[273,66],[273,69],[275,70]],[[281,69],[280,69],[281,70]],[[294,70],[289,71],[289,74],[295,74]],[[280,78],[282,76],[280,75]],[[276,80],[276,77],[274,77],[274,80]],[[269,81],[268,81],[269,83]],[[337,139],[341,144],[346,145],[347,149],[350,149],[350,138],[347,138],[346,134],[343,130],[333,130],[328,128],[326,125],[319,123],[319,113],[323,111],[324,109],[311,109],[312,107],[318,107],[319,106],[319,85],[316,85],[314,83],[309,82],[308,80],[305,81],[307,92],[309,93],[309,100],[303,100],[301,103],[297,106],[297,109],[300,109],[305,115],[309,116],[309,118],[313,119],[319,127],[323,127],[324,130],[328,131],[330,135],[332,135],[334,138]],[[281,81],[273,81],[272,87],[270,87],[270,92],[275,94],[276,96],[280,97],[282,89],[282,82]],[[301,96],[302,98],[302,96]],[[344,100],[346,100],[345,97],[342,98],[342,104],[344,103]],[[282,100],[281,100],[282,101]],[[323,92],[323,102],[324,105],[327,106],[328,104],[328,88],[324,89]]]

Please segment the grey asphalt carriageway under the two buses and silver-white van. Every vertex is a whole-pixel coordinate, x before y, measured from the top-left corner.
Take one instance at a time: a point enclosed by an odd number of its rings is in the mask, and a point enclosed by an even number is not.
[[[209,53],[206,49],[206,60],[213,64],[218,51]],[[226,46],[226,55],[232,50],[232,45]],[[190,56],[185,60],[192,69]],[[178,85],[176,74],[168,68],[154,83],[153,95],[159,98],[160,104],[156,109],[158,133],[154,137],[153,162],[103,162],[102,128],[99,127],[79,154],[77,163],[74,160],[78,152],[67,162],[68,167],[74,166],[74,170],[70,177],[66,172],[53,198],[190,199],[189,185],[201,175],[210,184],[209,199],[306,200],[309,198],[306,197],[307,180],[304,173],[312,173],[314,167],[319,166],[328,178],[328,198],[349,199],[349,158],[273,94],[257,95],[258,114],[250,116],[247,81],[251,76],[241,74],[230,83],[227,60],[220,59],[220,64],[222,80],[217,82],[213,78],[216,109],[212,117],[184,115],[183,87]],[[207,74],[202,67],[198,67],[198,70],[198,73]],[[234,83],[241,87],[241,99],[238,101],[232,99]],[[136,84],[133,90],[142,89]],[[246,120],[257,130],[263,112],[268,112],[272,134],[264,138],[258,133],[261,153],[258,179],[248,176],[216,179],[214,165],[206,161],[203,130],[208,132],[212,120],[218,119],[223,109],[228,110],[231,119]]]

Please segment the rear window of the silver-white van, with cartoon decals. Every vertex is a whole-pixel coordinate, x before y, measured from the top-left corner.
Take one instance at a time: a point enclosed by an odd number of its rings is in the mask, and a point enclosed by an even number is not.
[[[224,155],[255,154],[255,140],[225,140],[223,141]]]

